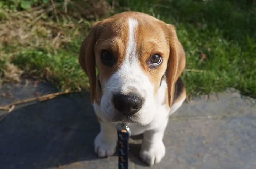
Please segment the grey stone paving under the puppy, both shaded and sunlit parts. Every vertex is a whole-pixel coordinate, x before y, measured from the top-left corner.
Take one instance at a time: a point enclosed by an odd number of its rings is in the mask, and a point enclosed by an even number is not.
[[[47,83],[8,84],[0,105],[56,91]],[[98,132],[88,94],[17,106],[0,122],[0,169],[115,169],[117,155],[94,154]],[[140,138],[130,140],[130,169],[149,168],[139,159]],[[256,100],[233,89],[194,98],[169,117],[164,144],[165,157],[151,168],[255,169]]]

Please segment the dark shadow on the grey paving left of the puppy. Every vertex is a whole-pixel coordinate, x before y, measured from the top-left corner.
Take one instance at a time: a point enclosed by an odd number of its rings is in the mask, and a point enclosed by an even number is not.
[[[61,96],[16,109],[0,123],[0,166],[49,168],[98,159],[99,125],[89,96]]]

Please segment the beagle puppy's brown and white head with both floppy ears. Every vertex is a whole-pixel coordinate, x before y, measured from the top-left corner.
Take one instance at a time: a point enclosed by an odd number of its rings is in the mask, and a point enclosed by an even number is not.
[[[82,42],[79,63],[89,76],[91,102],[100,104],[107,121],[146,125],[159,113],[156,105],[163,104],[164,96],[158,96],[165,72],[172,105],[185,53],[172,25],[124,12],[94,24]]]

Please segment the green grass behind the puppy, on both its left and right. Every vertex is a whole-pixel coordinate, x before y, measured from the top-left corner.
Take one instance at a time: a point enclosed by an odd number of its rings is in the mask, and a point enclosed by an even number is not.
[[[208,94],[234,87],[242,94],[256,97],[255,1],[118,2],[114,13],[129,8],[175,25],[186,52],[186,70],[182,78],[188,94]],[[88,29],[83,31],[83,25],[78,27],[81,34],[73,36],[73,40],[63,45],[57,53],[44,48],[24,50],[22,47],[22,52],[11,62],[26,72],[34,70],[34,74],[47,78],[61,90],[87,87],[88,80],[78,65],[77,57]],[[202,54],[206,56],[203,60]]]

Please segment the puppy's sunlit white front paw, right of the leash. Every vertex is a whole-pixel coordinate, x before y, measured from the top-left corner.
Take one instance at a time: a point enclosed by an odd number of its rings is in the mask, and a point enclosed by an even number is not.
[[[148,165],[159,163],[165,155],[165,146],[161,141],[159,143],[143,142],[140,150],[140,158]]]

